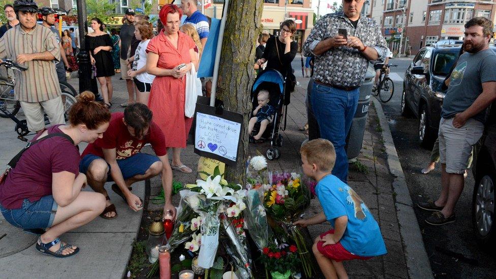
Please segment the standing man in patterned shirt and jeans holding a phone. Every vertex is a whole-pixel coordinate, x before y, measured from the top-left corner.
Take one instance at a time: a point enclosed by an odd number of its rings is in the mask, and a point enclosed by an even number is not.
[[[345,183],[345,141],[358,105],[359,87],[368,62],[383,60],[387,52],[381,26],[360,16],[364,2],[343,0],[343,12],[323,16],[303,44],[304,55],[315,56],[312,109],[321,137],[336,149],[332,174]],[[338,29],[346,29],[347,38],[338,35]]]

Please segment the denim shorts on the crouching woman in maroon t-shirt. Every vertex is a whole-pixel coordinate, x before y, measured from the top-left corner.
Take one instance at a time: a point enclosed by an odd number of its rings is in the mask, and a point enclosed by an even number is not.
[[[19,209],[7,209],[0,205],[0,211],[5,220],[21,229],[45,229],[53,224],[58,204],[53,196],[44,196],[39,201],[22,201]]]

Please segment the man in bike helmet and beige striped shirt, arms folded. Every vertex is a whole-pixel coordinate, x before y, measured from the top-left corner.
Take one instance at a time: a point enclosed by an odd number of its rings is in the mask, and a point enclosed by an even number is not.
[[[17,73],[15,98],[26,115],[27,127],[45,128],[44,113],[51,125],[65,124],[64,106],[53,60],[60,60],[60,48],[50,29],[36,23],[38,5],[33,0],[14,1],[20,24],[0,38],[0,58],[28,67]]]

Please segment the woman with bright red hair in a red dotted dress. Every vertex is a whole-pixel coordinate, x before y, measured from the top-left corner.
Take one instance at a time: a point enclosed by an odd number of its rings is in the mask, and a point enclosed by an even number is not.
[[[156,76],[148,107],[153,112],[153,121],[166,135],[166,146],[172,148],[172,169],[191,173],[181,162],[181,148],[186,147],[193,123],[193,118],[184,116],[185,75],[193,66],[198,70],[198,58],[193,39],[179,30],[181,16],[176,5],[162,7],[159,17],[164,28],[146,48],[146,71]]]

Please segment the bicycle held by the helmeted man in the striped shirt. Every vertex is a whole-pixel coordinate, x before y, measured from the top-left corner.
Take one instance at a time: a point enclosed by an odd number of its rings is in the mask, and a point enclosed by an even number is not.
[[[0,63],[0,66],[1,65],[5,65],[8,69],[13,69],[14,71],[19,71],[19,72],[27,70],[26,67],[18,65],[17,63],[12,62],[12,60],[4,60]],[[13,79],[11,79],[11,80],[13,80]],[[15,80],[13,80],[13,81],[15,82]],[[2,91],[1,91],[2,96],[5,95],[5,97],[7,98],[7,97],[9,97],[7,94],[10,94],[11,91],[8,91],[7,89],[3,88],[4,86],[6,88],[8,88],[8,87],[12,88],[12,95],[13,95],[14,83],[9,81],[6,78],[0,77],[0,88],[2,89]],[[67,121],[69,119],[69,110],[71,109],[72,105],[74,105],[77,101],[76,101],[75,96],[73,96],[72,92],[69,92],[70,89],[66,89],[66,90],[67,91],[62,91],[62,94],[60,97],[62,98],[62,104],[64,105],[64,118]],[[12,98],[13,98],[13,96],[12,96]],[[7,102],[6,102],[6,100],[7,100]],[[9,105],[12,104],[9,102],[9,100],[11,100],[11,99],[9,99],[9,98],[0,99],[0,114],[5,115],[2,117],[12,119],[12,121],[14,121],[16,123],[14,130],[16,131],[16,133],[18,135],[17,138],[22,140],[22,141],[27,141],[25,136],[33,135],[34,133],[29,134],[30,131],[27,128],[26,119],[21,120],[21,119],[16,117],[16,114],[19,111],[19,107],[20,107],[19,102],[16,101],[18,106],[14,105],[12,107],[9,107]],[[9,108],[11,110],[9,110]],[[45,125],[50,125],[50,121],[48,120],[48,117],[46,115],[45,115]]]

